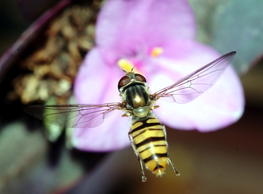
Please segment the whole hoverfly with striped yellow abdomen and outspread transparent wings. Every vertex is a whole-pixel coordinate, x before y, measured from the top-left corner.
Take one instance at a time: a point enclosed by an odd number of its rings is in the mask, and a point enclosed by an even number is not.
[[[130,116],[132,120],[128,136],[140,163],[142,181],[146,181],[143,164],[156,176],[162,176],[171,163],[176,175],[179,175],[168,153],[165,126],[152,113],[159,107],[156,101],[165,98],[166,101],[184,104],[194,100],[215,83],[235,53],[232,51],[223,55],[154,94],[150,94],[143,75],[134,73],[133,68],[130,72],[123,69],[126,75],[118,83],[122,102],[30,106],[25,111],[55,125],[92,128],[103,123],[113,110],[122,110],[122,116]]]

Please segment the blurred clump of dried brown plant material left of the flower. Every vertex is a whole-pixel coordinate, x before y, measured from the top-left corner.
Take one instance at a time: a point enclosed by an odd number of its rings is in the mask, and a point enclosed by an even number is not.
[[[85,54],[94,46],[99,9],[97,1],[89,6],[73,5],[54,18],[45,31],[43,46],[18,64],[29,73],[12,81],[14,90],[7,99],[29,104],[57,96],[59,103],[65,103]]]

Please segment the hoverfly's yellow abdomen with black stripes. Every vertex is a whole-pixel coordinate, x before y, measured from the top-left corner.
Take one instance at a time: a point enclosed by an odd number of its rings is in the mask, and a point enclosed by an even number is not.
[[[166,134],[162,124],[153,115],[133,118],[130,133],[145,166],[156,176],[162,176],[168,163]]]

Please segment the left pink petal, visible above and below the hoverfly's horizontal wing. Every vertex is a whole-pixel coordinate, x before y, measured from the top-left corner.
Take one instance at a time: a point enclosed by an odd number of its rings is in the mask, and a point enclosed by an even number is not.
[[[105,66],[96,48],[87,54],[75,79],[74,93],[79,104],[104,104],[119,102],[117,88],[119,79],[125,74],[119,68]],[[111,151],[130,144],[129,124],[117,110],[100,126],[89,129],[75,129],[73,145],[85,151]]]

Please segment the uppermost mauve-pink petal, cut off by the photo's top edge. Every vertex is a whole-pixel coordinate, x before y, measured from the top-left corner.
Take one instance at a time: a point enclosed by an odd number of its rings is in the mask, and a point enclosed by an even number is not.
[[[110,0],[97,20],[96,41],[114,61],[171,38],[194,39],[193,12],[185,0]]]

